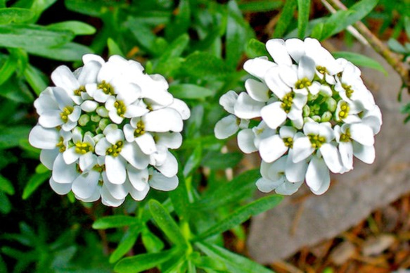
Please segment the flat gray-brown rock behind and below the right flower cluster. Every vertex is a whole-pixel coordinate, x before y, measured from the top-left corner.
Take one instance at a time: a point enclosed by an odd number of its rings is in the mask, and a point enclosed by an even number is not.
[[[285,197],[273,210],[254,217],[248,249],[257,262],[287,258],[302,246],[331,239],[410,191],[410,124],[404,125],[404,115],[399,113],[400,78],[373,50],[356,45],[354,51],[376,58],[389,73],[385,77],[362,69],[383,113],[383,126],[376,136],[376,162],[366,165],[355,158],[354,170],[333,175],[331,188],[322,196],[314,196],[305,187]],[[409,96],[404,91],[406,100]]]

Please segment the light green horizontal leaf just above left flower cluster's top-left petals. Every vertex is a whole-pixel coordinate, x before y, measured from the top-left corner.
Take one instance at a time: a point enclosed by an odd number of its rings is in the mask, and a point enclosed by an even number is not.
[[[33,55],[58,61],[80,61],[84,54],[93,53],[88,46],[72,42],[49,48],[33,46],[31,49],[27,49],[27,51]]]

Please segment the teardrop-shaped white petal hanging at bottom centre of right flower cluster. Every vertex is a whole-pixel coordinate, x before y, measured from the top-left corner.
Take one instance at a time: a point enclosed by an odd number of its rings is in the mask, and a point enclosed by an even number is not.
[[[322,194],[327,191],[331,183],[331,176],[328,167],[323,159],[317,156],[312,157],[306,172],[306,184],[315,194]]]

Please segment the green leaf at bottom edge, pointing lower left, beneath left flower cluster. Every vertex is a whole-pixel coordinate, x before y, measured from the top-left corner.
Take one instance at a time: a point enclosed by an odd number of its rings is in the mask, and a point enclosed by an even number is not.
[[[129,258],[124,258],[117,262],[117,265],[115,265],[114,270],[118,273],[142,272],[143,270],[158,267],[163,262],[166,262],[167,260],[171,259],[177,252],[177,248],[172,248],[170,250],[162,251],[160,253],[146,253]]]

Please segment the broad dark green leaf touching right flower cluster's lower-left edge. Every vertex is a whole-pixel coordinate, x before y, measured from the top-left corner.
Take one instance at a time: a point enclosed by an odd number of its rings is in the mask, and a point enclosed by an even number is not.
[[[255,191],[255,181],[258,178],[260,178],[259,169],[243,172],[231,182],[221,184],[216,189],[206,192],[203,198],[191,204],[191,208],[193,210],[213,210],[248,198]]]

